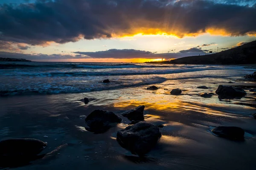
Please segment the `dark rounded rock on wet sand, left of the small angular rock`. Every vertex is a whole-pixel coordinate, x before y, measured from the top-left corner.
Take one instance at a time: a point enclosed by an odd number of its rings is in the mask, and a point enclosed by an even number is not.
[[[95,133],[103,133],[107,131],[113,124],[120,123],[122,119],[115,113],[110,111],[95,110],[90,113],[85,122],[90,127],[87,130]]]

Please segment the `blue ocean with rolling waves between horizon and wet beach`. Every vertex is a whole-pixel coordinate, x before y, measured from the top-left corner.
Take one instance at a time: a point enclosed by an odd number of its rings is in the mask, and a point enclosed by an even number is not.
[[[144,63],[1,62],[0,95],[83,93],[167,80],[233,79],[253,71],[243,66]],[[109,79],[111,83],[102,83]]]

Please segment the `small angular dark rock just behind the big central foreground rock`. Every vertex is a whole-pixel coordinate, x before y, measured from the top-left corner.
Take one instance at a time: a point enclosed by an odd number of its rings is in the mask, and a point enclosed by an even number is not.
[[[144,120],[144,108],[145,106],[139,106],[135,109],[122,113],[122,116],[127,117],[131,121]]]

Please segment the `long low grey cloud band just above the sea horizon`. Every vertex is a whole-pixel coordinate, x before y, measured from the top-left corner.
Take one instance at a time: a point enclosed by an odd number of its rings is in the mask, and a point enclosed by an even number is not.
[[[114,59],[132,59],[132,58],[146,58],[146,59],[171,59],[171,58],[180,58],[194,55],[204,55],[206,54],[203,50],[198,48],[190,48],[188,50],[182,50],[177,53],[161,53],[134,49],[110,49],[107,51],[96,51],[96,52],[73,52],[71,54],[23,54],[17,52],[5,52],[0,51],[0,57],[6,58],[24,58],[29,60],[38,60],[38,59],[105,59],[105,58],[114,58]]]

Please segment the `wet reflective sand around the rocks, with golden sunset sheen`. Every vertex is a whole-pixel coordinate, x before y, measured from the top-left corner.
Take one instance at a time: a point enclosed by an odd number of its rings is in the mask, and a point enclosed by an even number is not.
[[[95,91],[83,94],[55,94],[0,97],[0,140],[35,138],[48,143],[42,153],[62,147],[47,159],[15,170],[254,170],[256,159],[255,83],[224,79],[168,80],[148,86]],[[216,84],[213,84],[216,83]],[[242,99],[205,99],[203,92],[215,92],[218,85],[247,85]],[[197,89],[206,85],[209,89]],[[172,96],[173,88],[183,95]],[[167,89],[167,90],[165,90]],[[81,99],[93,99],[85,105]],[[130,121],[124,111],[145,105],[145,122],[160,128],[162,137],[144,159],[132,155],[116,142],[116,132]],[[250,106],[248,106],[250,105]],[[106,133],[85,130],[85,117],[94,109],[113,111],[123,120]],[[245,130],[242,142],[214,136],[211,129],[238,126]],[[44,137],[45,136],[45,137]],[[47,136],[47,137],[46,137]]]

